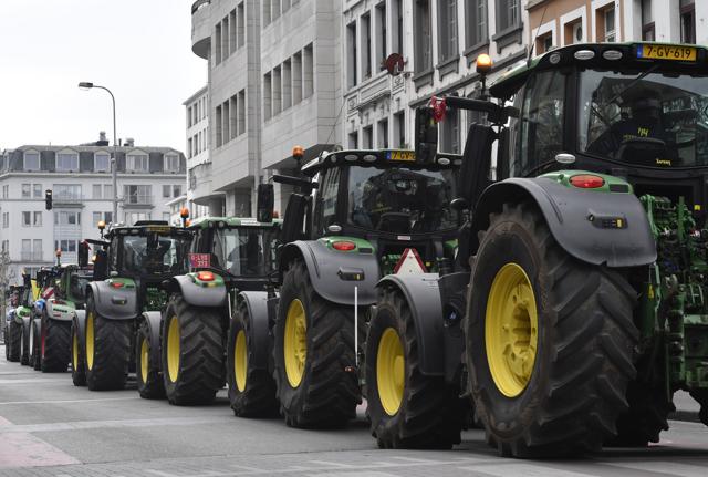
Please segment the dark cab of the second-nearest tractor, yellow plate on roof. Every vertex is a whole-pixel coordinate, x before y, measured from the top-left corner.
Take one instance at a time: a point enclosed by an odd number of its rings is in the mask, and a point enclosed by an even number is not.
[[[460,155],[399,149],[324,154],[302,167],[299,183],[274,177],[304,193],[288,206],[283,241],[320,238],[337,250],[339,243],[345,251],[375,253],[383,272],[415,249],[426,269],[436,268],[436,258],[455,253],[461,215],[451,201],[460,164]],[[291,219],[304,229],[293,234]]]

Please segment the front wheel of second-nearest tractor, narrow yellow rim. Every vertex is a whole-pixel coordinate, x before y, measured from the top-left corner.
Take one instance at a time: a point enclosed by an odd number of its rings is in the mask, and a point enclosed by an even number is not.
[[[229,326],[227,343],[227,384],[233,414],[239,417],[262,417],[278,414],[275,382],[268,370],[253,367],[254,350],[251,340],[253,323],[246,302],[237,304]]]

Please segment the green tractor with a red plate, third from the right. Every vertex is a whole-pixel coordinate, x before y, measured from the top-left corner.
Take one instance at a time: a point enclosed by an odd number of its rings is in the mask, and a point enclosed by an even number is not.
[[[138,331],[140,396],[166,394],[171,404],[202,404],[223,387],[236,297],[248,292],[266,302],[280,226],[271,217],[204,217],[191,224],[189,272],[170,279],[164,314],[150,314]],[[267,340],[267,330],[259,338]]]

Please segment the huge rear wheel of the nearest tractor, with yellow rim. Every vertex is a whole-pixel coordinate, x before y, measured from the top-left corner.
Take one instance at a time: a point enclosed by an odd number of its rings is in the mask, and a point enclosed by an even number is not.
[[[501,455],[597,450],[616,435],[635,301],[618,273],[561,249],[534,207],[490,216],[462,328],[476,411]]]

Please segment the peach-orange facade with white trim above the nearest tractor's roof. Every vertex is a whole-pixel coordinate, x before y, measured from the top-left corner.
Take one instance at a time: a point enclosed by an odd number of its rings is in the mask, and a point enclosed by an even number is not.
[[[697,0],[530,0],[535,54],[581,42],[708,43],[708,2]]]

